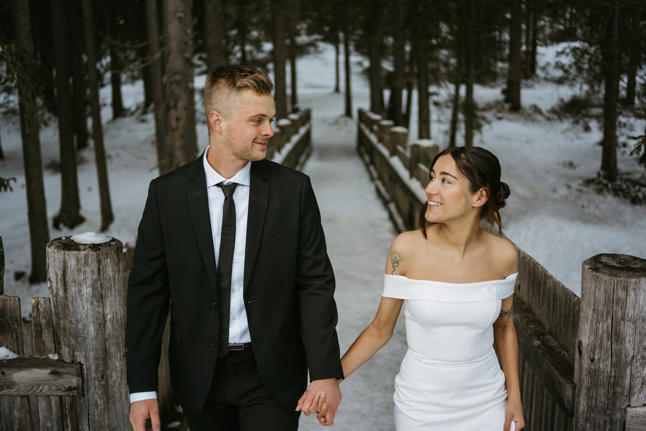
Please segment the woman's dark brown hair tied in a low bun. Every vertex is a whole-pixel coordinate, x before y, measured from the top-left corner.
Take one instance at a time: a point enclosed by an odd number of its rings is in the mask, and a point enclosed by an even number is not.
[[[503,234],[503,222],[500,220],[500,209],[505,207],[509,197],[509,186],[500,180],[500,162],[491,151],[482,147],[449,147],[435,156],[431,169],[441,156],[452,156],[457,170],[469,181],[469,191],[475,193],[485,189],[487,201],[480,209],[480,218],[487,215],[498,225]],[[426,205],[419,213],[419,229],[426,238]]]

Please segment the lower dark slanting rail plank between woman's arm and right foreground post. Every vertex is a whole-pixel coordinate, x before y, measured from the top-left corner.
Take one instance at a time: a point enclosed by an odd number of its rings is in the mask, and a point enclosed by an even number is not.
[[[519,298],[514,298],[518,348],[532,370],[568,414],[574,411],[574,363],[545,326]]]

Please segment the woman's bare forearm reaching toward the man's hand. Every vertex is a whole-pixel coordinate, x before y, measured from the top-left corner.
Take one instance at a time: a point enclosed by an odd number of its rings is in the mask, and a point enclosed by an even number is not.
[[[381,298],[375,319],[341,358],[343,375],[346,379],[390,340],[403,302],[403,299]]]

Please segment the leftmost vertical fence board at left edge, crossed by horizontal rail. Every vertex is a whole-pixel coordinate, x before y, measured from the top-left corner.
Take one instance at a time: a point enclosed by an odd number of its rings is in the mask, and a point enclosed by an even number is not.
[[[25,354],[20,298],[0,296],[0,346],[16,355]],[[32,415],[27,395],[0,395],[0,429],[32,431]]]

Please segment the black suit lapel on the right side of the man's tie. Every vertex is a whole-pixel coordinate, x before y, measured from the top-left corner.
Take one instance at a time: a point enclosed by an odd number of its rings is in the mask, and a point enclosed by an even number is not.
[[[249,213],[247,215],[247,244],[244,256],[244,291],[247,290],[251,271],[256,261],[260,237],[265,225],[267,203],[269,202],[269,185],[264,182],[267,173],[262,162],[251,162],[249,179]],[[243,293],[244,293],[243,291]]]

